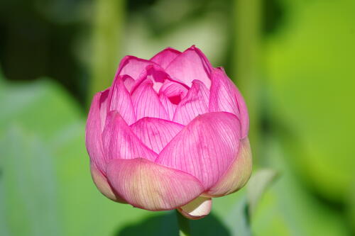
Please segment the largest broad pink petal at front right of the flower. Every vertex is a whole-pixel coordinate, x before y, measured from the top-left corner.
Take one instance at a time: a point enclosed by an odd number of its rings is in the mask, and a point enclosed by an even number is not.
[[[234,114],[205,113],[185,126],[155,162],[192,174],[209,189],[236,157],[239,139],[240,123]]]

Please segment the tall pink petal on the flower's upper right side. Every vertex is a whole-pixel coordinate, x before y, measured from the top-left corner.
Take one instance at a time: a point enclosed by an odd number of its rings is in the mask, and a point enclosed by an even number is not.
[[[209,111],[234,113],[241,120],[241,137],[246,137],[249,131],[249,116],[243,96],[223,69],[213,69],[211,79]]]

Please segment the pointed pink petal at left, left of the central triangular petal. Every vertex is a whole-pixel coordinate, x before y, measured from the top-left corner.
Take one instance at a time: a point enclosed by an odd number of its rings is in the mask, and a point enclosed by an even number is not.
[[[137,157],[154,161],[157,157],[155,152],[139,140],[129,125],[116,111],[111,111],[107,115],[102,137],[107,161],[110,159],[133,159]]]

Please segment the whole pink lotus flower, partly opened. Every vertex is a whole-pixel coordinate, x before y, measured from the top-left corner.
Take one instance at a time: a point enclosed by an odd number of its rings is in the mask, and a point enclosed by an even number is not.
[[[202,218],[248,181],[248,131],[239,90],[197,47],[126,56],[87,118],[92,179],[113,201]]]

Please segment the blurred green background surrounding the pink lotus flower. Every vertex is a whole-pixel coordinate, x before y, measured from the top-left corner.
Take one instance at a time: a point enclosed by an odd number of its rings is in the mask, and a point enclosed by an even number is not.
[[[355,235],[354,0],[2,0],[0,235],[177,235],[173,211],[97,191],[84,124],[121,57],[191,45],[244,94],[254,171],[278,173],[249,220],[243,189],[193,235]]]

